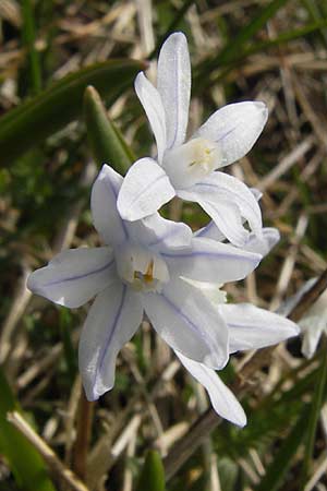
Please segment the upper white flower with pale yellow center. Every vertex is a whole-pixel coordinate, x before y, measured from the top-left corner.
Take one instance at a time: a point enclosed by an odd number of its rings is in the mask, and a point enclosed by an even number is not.
[[[231,104],[214,112],[185,143],[191,93],[187,41],[174,33],[158,59],[157,88],[140,73],[136,94],[155,134],[158,156],[137,160],[126,173],[118,209],[126,220],[152,215],[174,195],[198,203],[222,233],[242,247],[249,236],[244,217],[257,235],[259,206],[240,180],[216,171],[242,158],[259,136],[268,116],[265,104]]]

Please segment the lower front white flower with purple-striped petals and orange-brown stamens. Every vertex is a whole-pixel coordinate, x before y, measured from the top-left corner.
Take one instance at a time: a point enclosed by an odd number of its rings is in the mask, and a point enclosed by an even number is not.
[[[92,191],[94,225],[108,247],[61,252],[34,272],[28,288],[76,308],[96,299],[80,340],[80,370],[87,398],[114,384],[116,358],[136,332],[143,312],[182,356],[214,369],[229,358],[222,315],[181,277],[226,283],[244,278],[261,255],[205,238],[154,214],[124,221],[117,209],[122,177],[104,166]]]

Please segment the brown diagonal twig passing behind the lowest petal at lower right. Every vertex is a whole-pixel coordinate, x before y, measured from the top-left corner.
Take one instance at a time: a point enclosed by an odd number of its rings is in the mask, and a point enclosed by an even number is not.
[[[318,299],[322,292],[327,288],[327,270],[320,275],[318,280],[312,288],[301,298],[300,302],[293,308],[289,314],[292,321],[299,321],[306,310]],[[243,385],[243,380],[247,380],[259,368],[267,364],[274,349],[269,347],[259,349],[242,368],[242,378],[238,376],[233,384],[233,390],[239,391]],[[251,385],[242,390],[241,396],[251,391]],[[196,451],[208,434],[221,422],[221,418],[217,416],[214,409],[206,410],[190,428],[189,432],[177,442],[170,453],[164,459],[166,478],[170,479],[175,475],[180,467],[187,460],[187,458]]]

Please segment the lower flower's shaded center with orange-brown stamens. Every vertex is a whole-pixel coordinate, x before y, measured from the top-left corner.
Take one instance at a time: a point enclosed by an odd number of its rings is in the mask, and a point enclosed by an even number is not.
[[[120,278],[136,291],[161,291],[169,280],[167,264],[148,249],[128,243],[114,255]]]

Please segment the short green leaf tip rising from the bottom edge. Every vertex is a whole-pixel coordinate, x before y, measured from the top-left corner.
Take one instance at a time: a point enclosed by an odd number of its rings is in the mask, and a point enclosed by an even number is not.
[[[165,491],[165,470],[160,455],[148,451],[140,476],[136,491]]]

